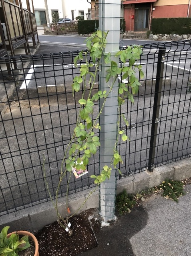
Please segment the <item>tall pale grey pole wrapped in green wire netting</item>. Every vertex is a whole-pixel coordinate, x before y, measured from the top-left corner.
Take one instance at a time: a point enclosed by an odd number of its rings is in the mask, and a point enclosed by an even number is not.
[[[119,51],[119,34],[120,34],[120,9],[121,0],[99,0],[99,29],[109,31],[107,36],[107,46],[105,52],[111,52],[111,58],[119,63],[119,57],[115,53]],[[110,79],[105,81],[108,66],[102,61],[101,72],[99,73],[100,90],[109,91],[109,86],[114,83],[113,90],[108,96],[105,107],[100,116],[100,171],[103,166],[110,166],[113,157],[117,137],[117,108],[118,108],[118,79],[114,82]],[[100,101],[102,106],[103,100]],[[101,183],[100,188],[100,215],[104,221],[115,218],[115,192],[116,192],[116,170],[111,171],[109,180]]]

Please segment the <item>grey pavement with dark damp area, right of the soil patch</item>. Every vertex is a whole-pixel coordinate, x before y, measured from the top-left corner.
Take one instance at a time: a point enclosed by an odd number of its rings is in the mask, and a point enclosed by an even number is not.
[[[179,203],[151,196],[110,227],[95,231],[99,246],[80,256],[190,256],[191,184]]]

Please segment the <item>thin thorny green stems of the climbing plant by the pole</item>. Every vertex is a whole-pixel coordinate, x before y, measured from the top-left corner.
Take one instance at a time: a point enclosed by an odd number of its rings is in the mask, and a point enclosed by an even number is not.
[[[102,49],[103,49],[103,45],[105,44],[105,40],[106,40],[106,37],[107,37],[107,34],[108,34],[108,33],[109,33],[109,31],[107,31],[105,37],[103,36],[103,37],[100,39],[100,40],[103,40],[103,39],[104,39],[103,42],[102,42],[101,45],[100,45],[100,46],[102,47]],[[96,37],[96,35],[95,35],[94,37]],[[90,37],[90,38],[93,39],[94,37]],[[88,50],[88,51],[90,51],[90,50]],[[87,68],[87,69],[88,69],[88,60],[87,60],[87,53],[88,53],[88,51],[87,51],[86,53],[84,53],[85,59],[86,59],[86,68]],[[90,52],[91,52],[91,51],[90,51]],[[102,55],[102,57],[103,57],[103,55]],[[101,57],[101,58],[102,58],[102,57]],[[94,64],[95,71],[94,71],[94,76],[93,76],[93,82],[90,82],[90,84],[91,84],[91,85],[90,85],[90,92],[89,92],[89,95],[88,95],[87,100],[89,100],[89,99],[91,98],[92,89],[93,89],[94,83],[95,83],[95,81],[96,81],[97,73],[98,73],[98,71],[99,71],[99,66],[101,65],[101,64],[100,64],[101,58],[97,59],[97,64]],[[124,66],[125,66],[125,63],[123,63],[123,66],[122,66],[122,68],[121,68],[121,72],[122,72]],[[136,67],[135,67],[135,68],[136,68]],[[135,70],[135,68],[134,68],[133,70]],[[90,74],[90,71],[88,72],[88,71],[86,70],[86,74],[85,74],[85,76],[83,76],[83,78],[84,78],[84,88],[83,88],[83,93],[82,93],[82,99],[84,98],[85,91],[86,91],[86,76],[87,76],[88,73]],[[82,76],[81,76],[81,77],[82,77]],[[90,135],[90,133],[92,132],[93,128],[95,127],[96,122],[97,122],[97,120],[99,119],[99,117],[100,117],[100,115],[101,115],[101,113],[102,113],[102,111],[103,111],[103,108],[104,108],[104,106],[105,106],[105,102],[106,102],[106,100],[107,100],[107,97],[108,97],[109,94],[111,93],[111,91],[112,91],[112,89],[113,89],[113,86],[114,86],[114,84],[115,84],[117,78],[118,78],[118,75],[116,74],[116,75],[113,77],[112,85],[111,85],[111,86],[108,85],[108,86],[109,86],[109,92],[103,97],[104,99],[103,99],[103,102],[102,102],[101,109],[99,110],[99,113],[98,113],[96,119],[95,119],[94,121],[92,121],[92,127],[91,127],[90,131],[89,131],[88,133],[86,133],[86,134],[89,134],[89,135]],[[91,79],[92,79],[92,75],[90,74],[90,81],[91,81]],[[125,93],[123,94],[123,97],[122,97],[121,99],[123,100],[124,98],[125,98]],[[87,101],[87,100],[86,100],[86,101]],[[81,113],[82,107],[83,107],[82,104],[80,104],[79,114],[78,114],[77,121],[76,121],[76,127],[78,127],[78,125],[80,124],[81,120],[83,120],[83,119],[80,117],[80,113]],[[120,108],[119,108],[119,104],[118,104],[117,114],[118,114],[118,116],[119,116],[119,119],[118,119],[118,121],[117,121],[117,138],[116,138],[115,146],[114,146],[114,149],[113,149],[113,150],[114,150],[114,153],[117,151],[117,144],[118,144],[119,137],[120,137],[120,135],[119,135],[120,127],[119,127],[119,125],[120,125],[120,121],[121,121],[121,115],[119,114],[119,112],[120,112]],[[84,121],[84,120],[83,120],[83,121]],[[86,141],[87,141],[87,137],[86,137],[86,139],[83,140],[83,144],[86,143]],[[45,168],[44,168],[45,158],[44,158],[44,162],[43,162],[44,179],[45,179],[45,182],[46,182],[46,187],[47,187],[48,193],[49,193],[49,195],[50,195],[50,199],[51,199],[51,201],[52,201],[52,204],[53,204],[53,206],[54,206],[54,208],[55,208],[55,210],[56,210],[56,214],[57,214],[57,217],[58,217],[58,223],[59,223],[60,226],[62,226],[64,229],[66,229],[66,227],[68,227],[68,219],[70,219],[72,216],[74,216],[76,213],[78,213],[78,211],[80,211],[80,209],[84,206],[84,204],[86,203],[86,201],[89,199],[90,195],[92,195],[92,193],[94,193],[94,192],[97,190],[98,186],[99,186],[99,183],[98,183],[98,184],[95,186],[95,188],[94,188],[92,191],[90,191],[90,193],[88,194],[88,196],[86,197],[86,199],[84,200],[84,202],[82,203],[82,205],[75,211],[75,213],[73,213],[72,215],[70,215],[70,216],[68,217],[68,211],[67,211],[67,209],[68,209],[68,191],[69,191],[70,178],[71,178],[71,175],[72,175],[72,171],[70,171],[69,178],[68,178],[68,182],[67,182],[67,190],[66,190],[66,220],[63,219],[63,217],[62,217],[62,216],[60,215],[60,213],[58,212],[58,191],[59,191],[59,189],[60,189],[62,179],[64,178],[64,176],[66,175],[66,172],[67,172],[67,169],[66,169],[66,168],[65,168],[65,171],[63,172],[63,164],[64,164],[64,161],[66,160],[66,155],[67,155],[67,153],[68,153],[68,149],[69,149],[70,145],[72,144],[72,142],[76,143],[76,133],[75,133],[75,131],[73,132],[72,137],[71,137],[71,139],[70,139],[70,142],[68,143],[68,145],[67,145],[67,147],[66,147],[66,150],[65,150],[65,152],[64,152],[64,158],[63,158],[62,163],[61,163],[60,178],[59,178],[59,182],[58,182],[58,187],[57,187],[57,189],[56,189],[56,203],[54,203],[54,201],[53,201],[53,199],[52,199],[52,195],[51,195],[50,189],[49,189],[49,187],[48,187],[48,182],[47,182],[47,180],[46,180],[46,172],[45,172]],[[82,143],[81,143],[81,144],[82,144]],[[83,145],[83,144],[82,144],[82,145]],[[72,155],[69,154],[69,156],[72,156],[72,160],[73,160],[73,159],[76,159],[76,157],[78,156],[79,153],[80,153],[80,150],[77,150],[77,152],[75,151],[74,154],[72,154]],[[43,157],[44,157],[44,155],[43,155]],[[111,168],[112,165],[114,165],[113,159],[114,159],[114,156],[113,156],[113,158],[111,159],[110,168]],[[115,167],[116,167],[116,166],[115,166]],[[116,168],[117,168],[117,167],[116,167]],[[72,229],[70,229],[70,227],[68,227],[68,235],[69,235],[69,236],[72,236]]]

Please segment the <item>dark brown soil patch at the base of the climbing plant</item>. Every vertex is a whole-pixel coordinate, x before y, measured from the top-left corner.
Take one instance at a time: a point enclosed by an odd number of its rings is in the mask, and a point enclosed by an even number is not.
[[[46,225],[36,234],[40,256],[74,256],[97,246],[87,219],[74,216],[69,222],[73,230],[71,237],[57,221]]]

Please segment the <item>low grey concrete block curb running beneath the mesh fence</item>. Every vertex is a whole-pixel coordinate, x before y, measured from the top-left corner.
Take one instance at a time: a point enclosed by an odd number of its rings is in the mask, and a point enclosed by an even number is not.
[[[128,176],[127,178],[121,178],[117,181],[117,193],[120,193],[123,189],[126,189],[127,193],[136,194],[142,190],[152,188],[153,186],[158,186],[166,178],[183,180],[189,177],[191,177],[191,158],[186,158],[178,162],[157,167],[153,170],[153,173],[145,171]],[[71,213],[75,213],[92,189],[84,190],[69,196],[68,207],[70,208]],[[60,198],[58,200],[58,208],[62,216],[66,217],[66,203],[64,200],[65,198]],[[84,206],[80,209],[80,212],[96,207],[99,207],[99,188],[86,201]],[[32,231],[34,229],[41,229],[44,227],[44,225],[54,221],[56,221],[55,209],[53,208],[51,202],[47,202],[42,203],[41,205],[28,207],[15,213],[10,213],[9,215],[1,216],[0,230],[4,226],[9,225],[10,232],[15,230]]]

